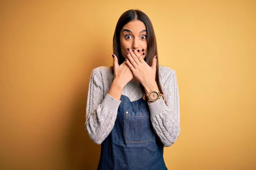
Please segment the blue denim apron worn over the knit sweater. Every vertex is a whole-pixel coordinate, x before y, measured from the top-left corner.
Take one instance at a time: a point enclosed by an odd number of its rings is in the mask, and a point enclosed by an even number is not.
[[[101,144],[97,170],[167,170],[148,103],[121,95],[115,125]]]

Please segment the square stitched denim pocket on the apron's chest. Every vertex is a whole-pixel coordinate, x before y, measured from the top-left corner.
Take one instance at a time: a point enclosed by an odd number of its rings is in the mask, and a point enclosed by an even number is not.
[[[143,143],[152,141],[150,114],[129,112],[125,114],[125,142]]]

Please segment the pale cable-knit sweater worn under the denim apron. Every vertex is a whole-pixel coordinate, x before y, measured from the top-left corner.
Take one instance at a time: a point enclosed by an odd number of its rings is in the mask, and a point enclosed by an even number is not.
[[[172,68],[159,65],[159,78],[166,103],[161,97],[156,102],[148,103],[151,123],[155,133],[164,146],[171,146],[180,134],[180,103],[176,73]],[[108,93],[113,82],[111,67],[94,68],[88,88],[85,128],[90,139],[101,144],[111,133],[116,121],[117,110],[121,101]],[[145,94],[138,81],[128,82],[122,91],[131,102]]]

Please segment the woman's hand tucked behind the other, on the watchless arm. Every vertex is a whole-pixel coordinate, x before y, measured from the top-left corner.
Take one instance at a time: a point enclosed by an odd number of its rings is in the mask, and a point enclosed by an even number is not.
[[[122,88],[125,87],[125,85],[130,82],[134,75],[132,74],[130,68],[128,65],[123,62],[121,65],[118,64],[118,59],[115,55],[113,55],[114,60],[114,80],[115,82],[119,82]]]

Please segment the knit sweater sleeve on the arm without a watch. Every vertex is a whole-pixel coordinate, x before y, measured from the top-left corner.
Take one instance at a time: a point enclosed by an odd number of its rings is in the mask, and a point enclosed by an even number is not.
[[[85,129],[96,144],[101,144],[113,129],[121,103],[109,94],[104,97],[103,91],[100,73],[94,69],[88,88]]]

